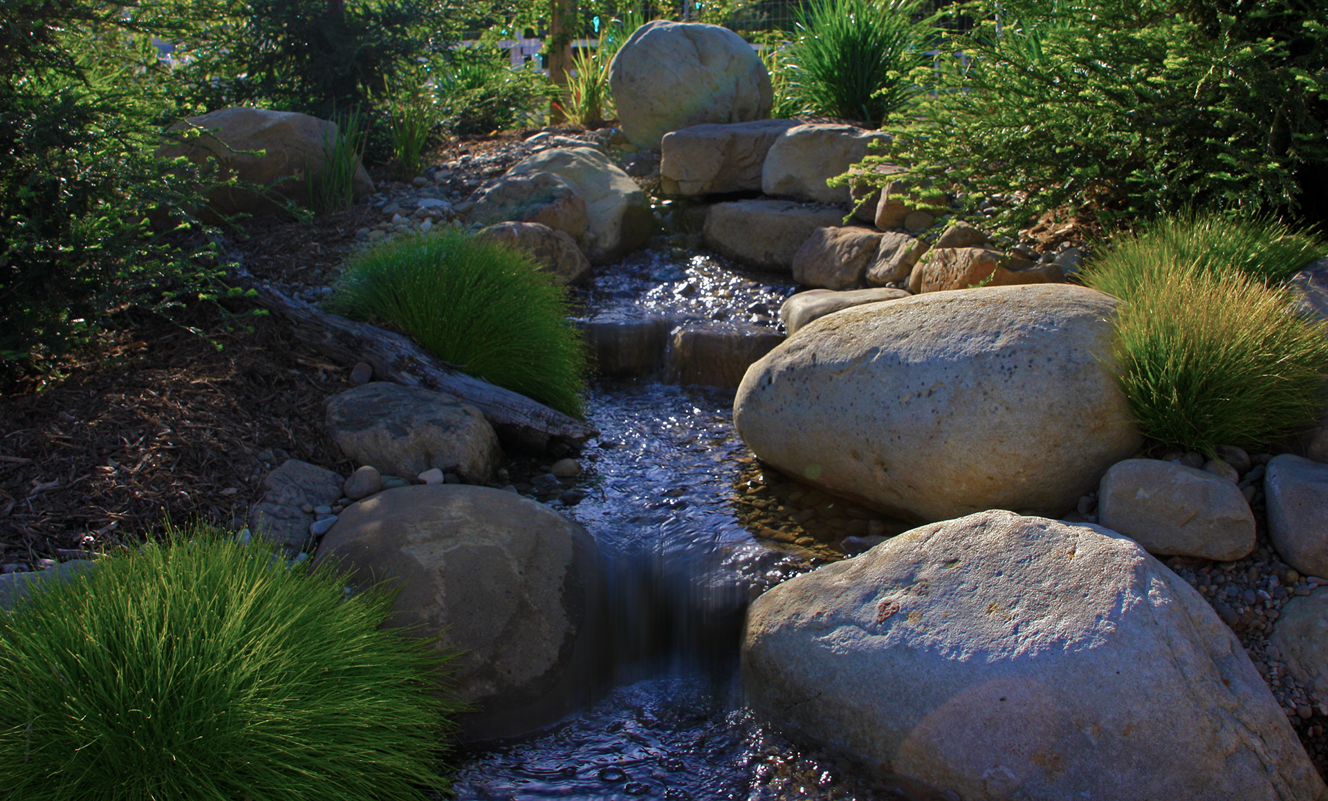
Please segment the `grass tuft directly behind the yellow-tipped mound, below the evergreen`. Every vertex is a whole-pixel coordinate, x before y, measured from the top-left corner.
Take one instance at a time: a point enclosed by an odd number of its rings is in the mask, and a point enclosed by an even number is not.
[[[1293,233],[1268,216],[1227,217],[1216,212],[1167,215],[1137,235],[1118,236],[1112,248],[1085,265],[1081,280],[1120,298],[1161,282],[1166,273],[1194,269],[1280,284],[1328,245],[1309,233]]]

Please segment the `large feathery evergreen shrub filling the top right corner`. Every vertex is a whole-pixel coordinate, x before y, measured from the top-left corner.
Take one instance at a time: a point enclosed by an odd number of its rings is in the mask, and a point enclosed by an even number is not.
[[[1227,13],[1224,7],[1230,7]],[[1272,11],[1276,7],[1278,11]],[[1292,210],[1328,163],[1328,5],[977,0],[878,156],[980,200],[1013,232],[1069,207]],[[898,179],[899,176],[892,176]],[[884,179],[882,179],[884,180]]]

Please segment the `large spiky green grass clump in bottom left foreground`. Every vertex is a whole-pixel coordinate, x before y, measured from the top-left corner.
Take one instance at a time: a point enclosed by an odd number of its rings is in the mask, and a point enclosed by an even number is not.
[[[24,801],[409,800],[444,790],[449,655],[394,590],[205,526],[0,613],[0,790]]]

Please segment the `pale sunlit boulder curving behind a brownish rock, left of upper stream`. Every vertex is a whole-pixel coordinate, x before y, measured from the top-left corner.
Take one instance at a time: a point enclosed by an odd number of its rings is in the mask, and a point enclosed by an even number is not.
[[[552,172],[586,202],[586,256],[607,264],[645,245],[655,227],[645,192],[608,156],[590,147],[554,147],[522,159],[509,176]],[[550,225],[552,227],[552,225]]]

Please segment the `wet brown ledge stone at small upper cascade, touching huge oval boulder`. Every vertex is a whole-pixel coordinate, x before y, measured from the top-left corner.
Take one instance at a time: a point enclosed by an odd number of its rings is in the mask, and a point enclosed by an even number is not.
[[[684,325],[673,332],[673,346],[668,353],[668,381],[736,387],[752,362],[770,353],[782,341],[782,334],[758,325]]]

